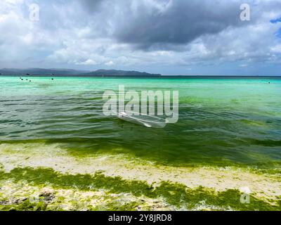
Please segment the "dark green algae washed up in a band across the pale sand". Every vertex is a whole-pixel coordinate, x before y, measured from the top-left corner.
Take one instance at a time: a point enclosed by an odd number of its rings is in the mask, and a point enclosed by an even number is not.
[[[238,190],[214,191],[210,188],[188,188],[183,184],[162,181],[159,185],[149,185],[145,181],[124,180],[122,177],[105,176],[101,172],[91,174],[61,174],[48,168],[15,168],[11,172],[0,172],[0,181],[25,181],[32,186],[52,186],[57,189],[77,191],[99,191],[107,193],[130,193],[138,198],[163,198],[166,203],[178,209],[192,210],[200,205],[209,205],[219,210],[281,210],[281,201],[267,203],[251,195],[250,204],[240,203],[241,193]],[[38,203],[37,203],[38,204]],[[45,210],[44,204],[21,203],[17,207],[0,204],[0,210]],[[95,206],[90,210],[136,210],[138,202],[132,201],[120,205],[117,201],[104,206]]]

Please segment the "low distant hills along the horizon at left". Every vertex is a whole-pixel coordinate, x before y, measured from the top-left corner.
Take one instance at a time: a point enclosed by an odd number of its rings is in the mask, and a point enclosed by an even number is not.
[[[1,69],[0,75],[9,76],[84,76],[84,77],[160,77],[160,74],[124,70],[67,70],[67,69]]]

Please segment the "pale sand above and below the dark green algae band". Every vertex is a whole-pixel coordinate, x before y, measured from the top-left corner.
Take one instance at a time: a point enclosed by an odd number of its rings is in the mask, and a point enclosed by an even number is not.
[[[247,169],[238,167],[172,167],[157,165],[153,162],[133,158],[130,155],[87,155],[78,157],[71,155],[55,144],[27,143],[27,144],[0,144],[0,165],[4,172],[13,172],[17,168],[48,168],[59,174],[103,174],[106,177],[120,177],[124,181],[141,181],[157,188],[163,182],[183,185],[190,190],[206,188],[215,192],[228,190],[251,191],[254,198],[262,200],[270,205],[277,205],[281,196],[280,174],[266,172],[259,169]],[[44,174],[42,174],[44,176]],[[46,191],[47,190],[49,191]],[[3,191],[5,190],[5,191]],[[51,190],[51,191],[50,191]],[[119,205],[125,203],[136,203],[133,210],[231,210],[216,205],[197,205],[192,209],[176,207],[166,203],[164,198],[148,198],[147,196],[136,196],[131,193],[107,193],[105,190],[84,191],[75,188],[53,188],[52,185],[32,185],[22,181],[15,182],[13,179],[1,181],[1,198],[13,196],[26,198],[26,196],[43,195],[44,193],[56,198],[63,198],[62,203],[51,201],[48,207],[59,207],[60,210],[83,210],[87,205],[95,210],[107,210],[107,203],[117,201]],[[43,193],[43,194],[42,194]],[[79,196],[79,197],[78,197]],[[83,197],[84,196],[84,197]],[[106,200],[105,200],[106,198]],[[48,199],[48,198],[47,198]],[[76,199],[76,201],[75,201]],[[79,200],[77,200],[79,199]],[[73,203],[73,200],[76,204]],[[77,205],[77,202],[85,202]],[[6,200],[8,204],[9,200]],[[19,201],[19,200],[18,200]],[[237,199],[237,204],[240,204]],[[10,204],[13,200],[10,199]],[[6,204],[6,205],[7,205]],[[73,205],[74,204],[74,205]],[[118,205],[117,204],[117,205]],[[0,204],[1,205],[1,204]],[[3,205],[3,204],[2,204]],[[86,207],[86,208],[87,208]],[[118,206],[116,206],[118,208]],[[53,209],[53,208],[52,208]],[[92,209],[92,208],[91,208]]]

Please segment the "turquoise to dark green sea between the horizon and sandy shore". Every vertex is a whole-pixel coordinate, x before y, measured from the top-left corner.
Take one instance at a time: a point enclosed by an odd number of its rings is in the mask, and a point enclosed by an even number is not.
[[[0,143],[57,143],[165,165],[281,165],[281,79],[28,79],[0,77]],[[148,129],[106,117],[103,91],[119,84],[179,91],[178,123]]]

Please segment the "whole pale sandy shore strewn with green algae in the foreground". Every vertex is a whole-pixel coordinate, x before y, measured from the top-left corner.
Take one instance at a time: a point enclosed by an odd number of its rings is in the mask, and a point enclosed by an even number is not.
[[[125,154],[79,158],[55,144],[45,143],[1,143],[0,165],[3,174],[0,181],[0,208],[6,210],[9,204],[11,208],[16,207],[17,204],[12,204],[15,198],[18,198],[20,204],[19,199],[43,196],[44,193],[56,197],[50,203],[50,200],[47,203],[43,200],[41,204],[61,210],[110,210],[113,207],[110,203],[115,200],[124,200],[131,210],[247,210],[247,207],[248,210],[265,210],[267,207],[280,210],[281,206],[279,174],[259,169],[172,167],[156,165]],[[89,183],[84,181],[85,178]],[[240,203],[240,191],[245,187],[249,188],[251,198],[258,205]],[[8,200],[5,193],[16,194],[12,194]],[[69,198],[66,193],[72,193],[73,196],[77,193],[87,195],[85,199],[88,200],[83,209],[75,206],[76,197]],[[180,196],[174,196],[178,194]],[[173,198],[169,198],[170,195]],[[200,201],[199,195],[205,195],[208,204],[204,198]],[[228,197],[223,197],[222,203],[217,195]],[[181,199],[181,196],[186,198]],[[49,199],[47,197],[44,198]],[[58,201],[59,197],[64,199],[62,203]],[[181,202],[179,205],[176,202],[178,198]],[[68,207],[63,206],[66,202]],[[122,209],[122,204],[118,204],[115,204],[115,209]]]

